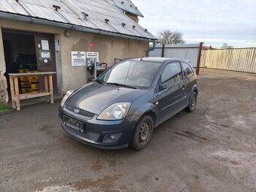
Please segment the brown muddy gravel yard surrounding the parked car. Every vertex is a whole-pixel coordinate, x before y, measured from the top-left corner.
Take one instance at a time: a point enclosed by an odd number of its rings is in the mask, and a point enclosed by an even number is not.
[[[194,113],[143,151],[91,148],[59,126],[59,102],[0,114],[0,191],[256,191],[256,75],[202,69]]]

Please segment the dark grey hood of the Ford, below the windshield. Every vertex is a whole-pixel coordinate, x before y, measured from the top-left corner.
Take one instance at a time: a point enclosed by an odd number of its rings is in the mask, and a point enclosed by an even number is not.
[[[66,104],[100,114],[108,106],[117,102],[133,102],[147,90],[132,89],[115,85],[90,83],[69,96]]]

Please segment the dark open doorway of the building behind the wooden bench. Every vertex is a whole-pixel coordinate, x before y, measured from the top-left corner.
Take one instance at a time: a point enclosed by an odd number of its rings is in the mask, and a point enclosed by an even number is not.
[[[8,95],[11,96],[9,73],[56,72],[53,35],[4,29],[2,32]],[[44,90],[44,79],[38,76],[19,78],[20,93],[38,93]],[[57,93],[56,75],[53,90]],[[11,100],[9,98],[9,100]]]

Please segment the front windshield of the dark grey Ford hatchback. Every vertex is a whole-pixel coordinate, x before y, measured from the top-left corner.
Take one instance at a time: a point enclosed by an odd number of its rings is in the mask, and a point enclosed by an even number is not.
[[[159,67],[160,62],[124,61],[101,75],[98,81],[126,87],[148,88]]]

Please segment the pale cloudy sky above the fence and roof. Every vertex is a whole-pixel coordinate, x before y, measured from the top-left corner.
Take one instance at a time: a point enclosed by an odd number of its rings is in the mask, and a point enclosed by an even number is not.
[[[178,30],[186,43],[256,47],[256,0],[132,0],[154,35]]]

